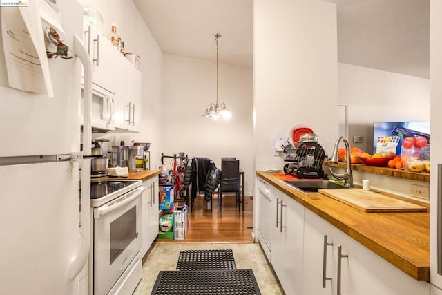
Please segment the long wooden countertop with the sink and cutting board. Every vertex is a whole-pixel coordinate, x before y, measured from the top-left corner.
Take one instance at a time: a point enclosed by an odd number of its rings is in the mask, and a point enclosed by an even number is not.
[[[272,173],[256,175],[416,280],[430,281],[430,213],[365,213],[321,193],[302,193]]]

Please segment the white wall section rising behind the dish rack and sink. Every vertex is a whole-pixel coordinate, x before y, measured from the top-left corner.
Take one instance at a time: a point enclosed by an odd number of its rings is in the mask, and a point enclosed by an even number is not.
[[[253,1],[256,170],[282,169],[278,138],[305,124],[331,155],[338,135],[336,5]]]

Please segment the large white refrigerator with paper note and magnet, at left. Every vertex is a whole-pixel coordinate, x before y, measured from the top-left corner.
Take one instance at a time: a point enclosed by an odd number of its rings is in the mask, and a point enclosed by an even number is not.
[[[90,247],[90,160],[83,159],[80,144],[83,136],[84,151],[90,151],[91,135],[88,116],[84,122],[79,119],[81,66],[85,113],[90,113],[91,70],[80,41],[83,9],[72,0],[23,2],[28,6],[0,8],[0,293],[84,294]],[[59,17],[64,31],[58,31],[59,37],[72,56],[46,57],[53,95],[11,88],[6,64],[13,52],[3,50],[10,41],[23,43],[20,38],[26,30],[15,23],[25,23],[29,28],[25,33],[32,38],[30,32],[37,27],[44,39],[44,5],[49,8],[45,8],[48,19]],[[15,19],[8,22],[11,15]],[[32,41],[37,53],[43,50],[46,56],[46,48],[38,45],[41,39]],[[34,70],[29,54],[14,58],[19,70]],[[32,83],[37,79],[26,80]]]

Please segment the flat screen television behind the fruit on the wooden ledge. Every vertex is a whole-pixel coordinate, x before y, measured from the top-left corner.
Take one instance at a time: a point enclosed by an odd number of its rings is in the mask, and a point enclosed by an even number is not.
[[[414,135],[421,135],[430,143],[430,122],[374,122],[373,153],[376,153],[380,140],[392,137],[397,140],[396,155],[400,155],[403,138]]]

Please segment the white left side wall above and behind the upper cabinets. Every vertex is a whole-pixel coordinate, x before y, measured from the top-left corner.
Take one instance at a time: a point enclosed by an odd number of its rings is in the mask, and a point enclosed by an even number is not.
[[[115,23],[126,50],[141,57],[142,132],[108,133],[100,137],[110,138],[111,142],[117,144],[124,140],[126,145],[131,144],[132,140],[151,142],[151,169],[155,169],[160,166],[162,151],[162,52],[133,1],[82,0],[81,3],[86,3],[102,14],[106,37],[111,34],[111,24]]]

